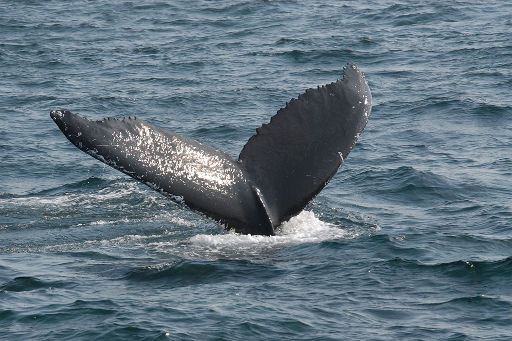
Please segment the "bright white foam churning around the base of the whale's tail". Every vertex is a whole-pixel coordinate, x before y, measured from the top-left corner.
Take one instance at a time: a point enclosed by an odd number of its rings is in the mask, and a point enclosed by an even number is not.
[[[275,231],[275,236],[252,236],[228,232],[221,235],[196,235],[189,239],[191,245],[208,246],[212,249],[261,249],[292,246],[303,243],[318,243],[331,239],[347,239],[357,237],[357,233],[349,233],[337,226],[324,222],[313,214],[303,211],[283,223]]]

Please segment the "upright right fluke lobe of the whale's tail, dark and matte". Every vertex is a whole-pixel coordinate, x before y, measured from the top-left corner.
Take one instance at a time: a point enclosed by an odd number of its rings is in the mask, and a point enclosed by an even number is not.
[[[257,129],[239,160],[273,221],[300,213],[327,185],[365,128],[370,88],[354,63],[334,83],[308,89]]]

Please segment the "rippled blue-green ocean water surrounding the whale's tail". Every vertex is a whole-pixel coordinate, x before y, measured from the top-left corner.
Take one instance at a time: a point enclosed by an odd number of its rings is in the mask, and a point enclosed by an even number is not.
[[[512,337],[510,1],[0,3],[0,338]],[[238,157],[356,62],[370,121],[273,237],[223,231],[49,117]]]

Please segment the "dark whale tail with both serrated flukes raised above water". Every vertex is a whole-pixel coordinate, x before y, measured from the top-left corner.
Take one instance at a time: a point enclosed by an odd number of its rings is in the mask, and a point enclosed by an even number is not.
[[[310,88],[256,129],[238,160],[194,139],[128,117],[50,117],[80,150],[226,230],[275,234],[329,183],[370,117],[372,96],[355,63],[337,81]]]

